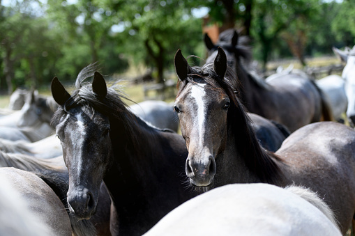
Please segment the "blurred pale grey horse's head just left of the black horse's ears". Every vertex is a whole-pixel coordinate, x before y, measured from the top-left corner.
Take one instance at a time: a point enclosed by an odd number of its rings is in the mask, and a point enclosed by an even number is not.
[[[17,126],[32,127],[43,123],[50,125],[50,119],[57,108],[58,104],[54,102],[52,97],[45,97],[31,91],[27,94],[26,102],[21,109],[22,116],[20,116]]]

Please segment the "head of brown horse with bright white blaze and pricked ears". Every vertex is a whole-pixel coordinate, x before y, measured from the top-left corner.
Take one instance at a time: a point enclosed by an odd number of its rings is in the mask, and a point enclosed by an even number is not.
[[[212,65],[192,68],[179,49],[174,63],[180,80],[174,109],[188,148],[186,174],[191,184],[209,186],[216,174],[216,156],[224,150],[227,141],[227,113],[231,101],[216,85],[224,80],[227,56],[218,48],[213,68]]]

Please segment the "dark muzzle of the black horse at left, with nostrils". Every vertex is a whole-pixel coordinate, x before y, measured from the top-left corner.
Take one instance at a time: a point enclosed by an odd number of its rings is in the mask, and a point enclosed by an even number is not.
[[[77,219],[90,219],[96,213],[97,200],[88,189],[82,191],[68,192],[68,207],[70,212],[75,214]]]

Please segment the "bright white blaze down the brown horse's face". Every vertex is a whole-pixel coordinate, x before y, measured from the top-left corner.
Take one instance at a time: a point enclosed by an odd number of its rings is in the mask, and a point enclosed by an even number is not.
[[[191,96],[195,99],[197,105],[197,125],[199,131],[199,142],[202,145],[202,140],[204,137],[204,120],[206,116],[206,111],[204,107],[204,95],[206,92],[204,91],[204,86],[206,84],[199,84],[198,86],[192,86],[191,88]]]

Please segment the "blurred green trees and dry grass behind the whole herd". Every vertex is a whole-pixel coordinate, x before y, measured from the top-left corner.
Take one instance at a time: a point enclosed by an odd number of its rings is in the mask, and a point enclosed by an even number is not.
[[[158,98],[174,100],[176,50],[201,65],[204,33],[217,40],[229,28],[250,37],[259,74],[337,65],[332,47],[354,45],[354,22],[350,0],[0,0],[0,107],[15,88],[49,95],[53,77],[73,85],[94,62],[135,102],[157,98],[163,83],[172,91]]]

